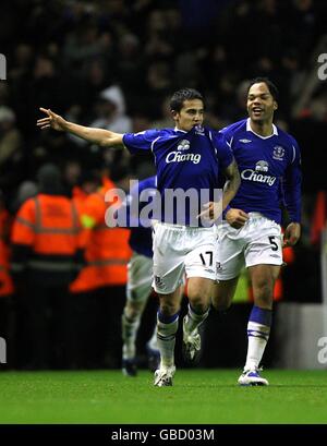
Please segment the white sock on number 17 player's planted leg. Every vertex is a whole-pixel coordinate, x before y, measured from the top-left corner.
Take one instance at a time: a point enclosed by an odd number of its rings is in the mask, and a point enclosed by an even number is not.
[[[179,316],[166,324],[157,320],[157,341],[160,351],[160,366],[170,367],[174,364],[175,334],[179,326]]]

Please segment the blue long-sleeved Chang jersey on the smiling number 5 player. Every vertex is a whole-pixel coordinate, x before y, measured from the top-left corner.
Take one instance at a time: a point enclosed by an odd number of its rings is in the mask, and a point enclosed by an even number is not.
[[[241,174],[241,186],[230,207],[258,212],[281,222],[281,202],[291,221],[301,220],[301,155],[296,141],[274,124],[274,133],[261,136],[250,118],[220,131],[230,145]]]

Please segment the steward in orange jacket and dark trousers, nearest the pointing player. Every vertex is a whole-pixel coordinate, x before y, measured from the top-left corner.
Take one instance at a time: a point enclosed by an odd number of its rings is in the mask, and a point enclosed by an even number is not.
[[[83,202],[85,266],[70,291],[74,303],[75,358],[78,367],[120,366],[121,314],[125,301],[126,266],[131,257],[130,230],[109,228],[105,201],[114,184],[106,179],[97,192]],[[81,194],[77,194],[81,196]]]

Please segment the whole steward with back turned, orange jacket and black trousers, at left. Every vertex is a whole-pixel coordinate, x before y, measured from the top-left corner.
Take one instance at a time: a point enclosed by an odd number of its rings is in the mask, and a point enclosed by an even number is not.
[[[19,366],[71,367],[73,345],[69,284],[78,273],[81,225],[72,200],[62,195],[60,170],[38,171],[39,193],[19,209],[12,229],[13,277],[19,285]]]

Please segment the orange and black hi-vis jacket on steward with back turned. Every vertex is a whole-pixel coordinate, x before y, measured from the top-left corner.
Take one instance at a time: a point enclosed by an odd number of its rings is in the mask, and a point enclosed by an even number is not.
[[[47,285],[68,285],[76,274],[82,227],[73,202],[38,194],[20,208],[12,229],[11,269]]]

